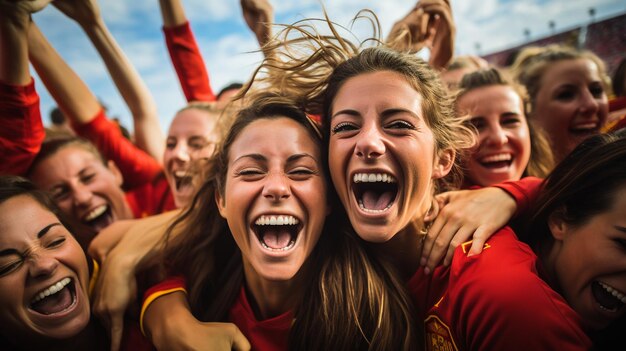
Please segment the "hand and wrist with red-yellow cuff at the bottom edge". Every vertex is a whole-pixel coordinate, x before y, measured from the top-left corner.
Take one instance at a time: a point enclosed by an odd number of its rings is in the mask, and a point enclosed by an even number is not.
[[[250,343],[236,325],[202,323],[194,318],[182,292],[154,300],[143,323],[158,350],[250,350]]]

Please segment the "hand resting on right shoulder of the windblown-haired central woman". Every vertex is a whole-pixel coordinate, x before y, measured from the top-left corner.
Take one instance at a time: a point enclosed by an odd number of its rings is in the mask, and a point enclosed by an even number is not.
[[[422,266],[432,271],[441,261],[449,265],[454,250],[472,238],[468,256],[482,252],[485,241],[511,219],[517,205],[504,190],[486,187],[450,191],[436,196],[441,210],[437,214],[422,249]],[[431,218],[426,218],[431,220]]]

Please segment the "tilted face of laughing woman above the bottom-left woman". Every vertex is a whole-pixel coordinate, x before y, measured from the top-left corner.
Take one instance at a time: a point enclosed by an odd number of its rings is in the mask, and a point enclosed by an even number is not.
[[[115,164],[104,165],[80,146],[66,146],[39,162],[31,178],[39,188],[50,192],[64,213],[96,231],[117,220],[133,218],[121,188],[122,175]],[[90,213],[102,206],[108,209],[109,217],[91,223]]]

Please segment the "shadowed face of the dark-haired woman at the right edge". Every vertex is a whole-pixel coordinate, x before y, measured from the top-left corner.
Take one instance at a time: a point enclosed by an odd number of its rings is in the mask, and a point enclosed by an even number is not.
[[[582,225],[568,225],[553,215],[549,226],[555,244],[543,261],[551,285],[592,330],[607,327],[623,316],[623,303],[616,311],[601,307],[592,286],[599,289],[596,282],[602,282],[626,301],[626,187],[615,193],[610,210]]]

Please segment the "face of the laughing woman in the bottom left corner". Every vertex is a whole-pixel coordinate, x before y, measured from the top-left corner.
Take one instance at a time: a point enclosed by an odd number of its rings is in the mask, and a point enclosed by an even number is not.
[[[90,318],[87,261],[59,219],[33,198],[20,195],[0,204],[0,233],[2,333],[20,345],[37,345],[85,329]],[[35,296],[66,277],[74,288],[56,295],[75,291],[73,304],[50,315],[31,308]]]

